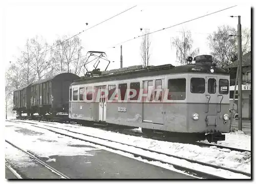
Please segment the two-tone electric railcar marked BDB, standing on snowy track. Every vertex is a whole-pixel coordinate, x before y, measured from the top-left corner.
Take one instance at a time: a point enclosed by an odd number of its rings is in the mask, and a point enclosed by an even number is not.
[[[70,86],[69,118],[223,141],[230,125],[229,74],[210,55],[194,61],[131,66],[76,80]]]

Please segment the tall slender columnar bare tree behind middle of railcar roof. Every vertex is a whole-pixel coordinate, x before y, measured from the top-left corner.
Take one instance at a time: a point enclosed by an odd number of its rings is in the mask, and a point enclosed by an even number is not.
[[[143,61],[143,65],[146,67],[150,64],[150,35],[148,35],[149,31],[144,31],[144,36],[142,36],[142,41],[140,45],[141,50],[141,58]]]

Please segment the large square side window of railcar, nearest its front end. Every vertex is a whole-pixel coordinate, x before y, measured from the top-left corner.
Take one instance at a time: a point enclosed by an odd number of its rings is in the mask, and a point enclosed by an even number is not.
[[[185,100],[186,98],[186,79],[168,80],[168,100]]]

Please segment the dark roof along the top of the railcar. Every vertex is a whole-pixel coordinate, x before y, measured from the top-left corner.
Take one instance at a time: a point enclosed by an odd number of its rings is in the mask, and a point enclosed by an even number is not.
[[[208,65],[196,65],[196,64],[187,64],[182,66],[173,66],[169,65],[168,67],[158,67],[151,70],[138,70],[132,72],[124,72],[124,73],[117,73],[113,75],[103,75],[99,77],[81,77],[78,80],[75,80],[71,85],[77,84],[88,84],[88,83],[96,83],[96,82],[105,82],[105,81],[114,81],[114,80],[125,80],[125,79],[133,79],[139,77],[150,77],[150,76],[158,76],[158,75],[165,75],[165,74],[181,74],[181,73],[210,73],[210,66]],[[200,71],[199,71],[200,70]],[[214,74],[223,74],[229,75],[225,70],[221,68],[215,68]]]

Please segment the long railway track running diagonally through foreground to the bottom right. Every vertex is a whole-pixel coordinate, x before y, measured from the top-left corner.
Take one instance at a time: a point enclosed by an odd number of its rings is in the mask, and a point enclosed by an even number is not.
[[[69,137],[72,137],[73,139],[77,139],[77,140],[81,140],[81,141],[86,141],[86,142],[89,142],[89,143],[92,143],[92,144],[100,145],[100,146],[103,146],[103,147],[106,147],[106,148],[122,151],[122,152],[125,152],[125,153],[130,153],[130,154],[133,154],[135,157],[141,157],[141,158],[146,159],[146,160],[156,161],[156,162],[161,162],[163,164],[173,165],[174,168],[176,168],[178,170],[181,170],[181,171],[184,171],[184,172],[186,172],[188,174],[191,174],[191,175],[193,175],[195,177],[201,177],[201,178],[207,178],[207,179],[224,179],[224,177],[221,177],[221,176],[205,173],[205,172],[198,171],[198,170],[195,170],[195,169],[191,169],[191,168],[188,168],[188,167],[180,166],[180,165],[177,165],[177,164],[174,164],[174,163],[166,162],[166,161],[164,161],[162,159],[156,159],[154,157],[145,156],[145,155],[142,155],[140,153],[136,153],[136,151],[127,151],[127,150],[120,149],[120,148],[117,148],[117,147],[113,147],[113,146],[109,146],[109,145],[106,145],[106,144],[102,144],[102,143],[99,143],[97,141],[92,141],[90,139],[82,139],[80,137],[73,136],[73,135],[70,135],[70,134],[67,134],[67,133],[63,133],[63,132],[59,132],[59,131],[55,131],[55,130],[47,128],[47,127],[51,127],[51,128],[59,129],[59,130],[65,130],[67,132],[74,133],[74,134],[85,135],[87,137],[96,138],[96,139],[99,139],[101,141],[108,141],[110,143],[117,143],[117,144],[121,144],[121,145],[126,145],[126,146],[129,146],[129,147],[132,148],[132,149],[129,149],[129,150],[134,150],[134,148],[135,149],[142,149],[144,151],[149,151],[151,153],[156,153],[156,154],[161,155],[161,156],[164,155],[164,156],[168,156],[168,157],[174,157],[174,158],[177,158],[177,159],[183,159],[183,160],[186,160],[187,162],[190,162],[190,163],[196,163],[196,164],[199,164],[199,165],[202,165],[202,166],[211,167],[211,168],[215,168],[215,169],[221,169],[221,170],[225,170],[225,171],[229,171],[229,172],[233,172],[233,173],[237,173],[237,174],[242,174],[242,175],[251,177],[250,173],[246,173],[246,172],[242,172],[242,171],[238,171],[238,170],[233,170],[233,169],[229,169],[229,168],[224,168],[224,167],[217,166],[217,165],[211,165],[211,164],[207,164],[207,163],[202,163],[202,162],[199,162],[197,160],[193,160],[193,159],[189,159],[189,158],[185,158],[185,157],[180,157],[180,156],[176,156],[176,155],[171,155],[171,154],[167,154],[167,153],[162,153],[162,152],[159,152],[159,151],[155,151],[155,150],[151,150],[151,149],[147,149],[147,148],[141,148],[141,147],[137,147],[137,146],[134,146],[134,145],[125,144],[125,143],[121,143],[121,142],[117,142],[117,141],[112,141],[112,140],[109,140],[109,139],[104,139],[104,138],[92,136],[92,135],[89,135],[89,134],[84,134],[84,133],[79,133],[79,132],[71,131],[71,130],[68,130],[68,129],[65,129],[65,128],[59,128],[59,127],[54,127],[54,126],[50,126],[50,125],[39,125],[38,126],[37,123],[29,123],[29,122],[22,122],[22,121],[10,121],[10,122],[32,124],[32,126],[34,126],[34,127],[43,128],[43,129],[49,130],[49,131],[54,132],[54,133],[58,133],[58,134],[65,135],[65,136],[69,136]]]

